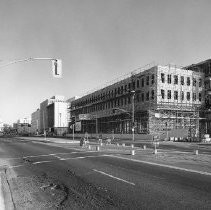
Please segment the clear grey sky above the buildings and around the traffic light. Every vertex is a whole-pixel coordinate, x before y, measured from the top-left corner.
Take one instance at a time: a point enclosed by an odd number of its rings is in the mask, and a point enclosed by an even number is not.
[[[155,62],[210,59],[210,0],[1,0],[0,118],[28,117],[54,95],[66,99]]]

